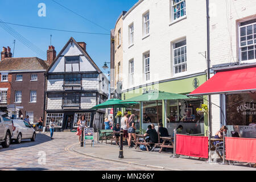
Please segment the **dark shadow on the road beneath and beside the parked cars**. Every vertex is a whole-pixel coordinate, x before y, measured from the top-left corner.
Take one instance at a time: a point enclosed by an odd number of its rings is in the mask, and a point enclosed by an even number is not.
[[[22,142],[20,144],[11,143],[9,148],[3,148],[0,145],[0,152],[14,150],[16,148],[36,146],[37,144],[48,142],[50,140],[51,140],[51,137],[49,137],[46,134],[36,134],[35,142],[31,142],[30,139],[22,139]]]

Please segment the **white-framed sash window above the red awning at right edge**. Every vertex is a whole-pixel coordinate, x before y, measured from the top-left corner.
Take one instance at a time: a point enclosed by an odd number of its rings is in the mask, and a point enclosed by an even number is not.
[[[256,59],[256,19],[239,24],[240,60]]]

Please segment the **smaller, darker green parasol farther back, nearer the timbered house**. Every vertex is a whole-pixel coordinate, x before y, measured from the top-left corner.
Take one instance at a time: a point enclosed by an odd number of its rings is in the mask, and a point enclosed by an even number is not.
[[[103,102],[97,106],[92,107],[91,109],[104,109],[104,108],[118,108],[118,107],[129,107],[135,104],[139,104],[138,102],[121,102],[117,98],[110,99],[106,102]]]

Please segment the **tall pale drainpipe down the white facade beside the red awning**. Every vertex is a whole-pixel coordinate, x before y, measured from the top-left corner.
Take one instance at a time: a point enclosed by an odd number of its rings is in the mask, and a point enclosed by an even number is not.
[[[210,79],[210,16],[209,16],[209,0],[206,0],[207,5],[207,80]],[[209,135],[212,135],[212,98],[208,96],[208,119],[209,119]]]

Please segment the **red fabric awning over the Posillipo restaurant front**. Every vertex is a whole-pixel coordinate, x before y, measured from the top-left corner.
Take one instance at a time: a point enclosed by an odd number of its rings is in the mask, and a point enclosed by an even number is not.
[[[256,90],[256,68],[217,72],[187,96]]]

